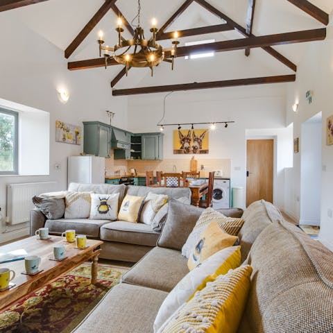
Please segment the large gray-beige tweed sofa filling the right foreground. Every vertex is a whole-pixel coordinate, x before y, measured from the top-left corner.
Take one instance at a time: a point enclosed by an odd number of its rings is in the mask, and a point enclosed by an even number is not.
[[[123,275],[122,282],[104,296],[75,333],[153,332],[164,298],[189,271],[180,250],[200,212],[196,207],[180,205],[171,200],[157,246]],[[164,231],[173,223],[170,217],[182,213],[187,218],[193,216],[187,219],[185,234],[176,237],[176,242],[166,239]],[[284,221],[280,212],[263,200],[250,205],[242,218],[241,254],[246,258],[244,263],[253,267],[253,273],[238,332],[333,332],[330,250]]]

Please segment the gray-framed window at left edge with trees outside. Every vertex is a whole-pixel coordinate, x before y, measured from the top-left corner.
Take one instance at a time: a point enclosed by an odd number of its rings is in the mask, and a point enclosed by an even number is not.
[[[0,108],[0,174],[17,173],[18,113]]]

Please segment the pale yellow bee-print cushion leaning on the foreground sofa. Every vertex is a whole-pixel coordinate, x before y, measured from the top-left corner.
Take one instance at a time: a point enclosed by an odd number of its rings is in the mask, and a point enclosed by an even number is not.
[[[189,255],[189,260],[187,261],[189,270],[196,268],[198,264],[217,251],[234,245],[237,239],[238,237],[223,232],[216,222],[210,223]]]

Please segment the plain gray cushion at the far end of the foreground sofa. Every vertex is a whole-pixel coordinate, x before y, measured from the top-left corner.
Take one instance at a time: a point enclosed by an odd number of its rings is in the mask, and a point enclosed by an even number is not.
[[[169,200],[167,221],[164,223],[158,246],[182,250],[187,237],[196,225],[203,208],[185,205],[178,200]]]

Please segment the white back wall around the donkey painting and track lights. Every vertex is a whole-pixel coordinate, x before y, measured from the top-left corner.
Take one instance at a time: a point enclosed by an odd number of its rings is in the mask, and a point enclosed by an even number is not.
[[[162,117],[164,95],[130,97],[128,129],[137,132],[158,131],[156,124]],[[279,85],[175,92],[167,97],[162,123],[235,121],[228,128],[222,125],[215,132],[210,131],[210,153],[200,155],[200,158],[230,159],[232,186],[244,187],[245,191],[246,129],[283,128],[284,108],[284,89]],[[164,130],[164,158],[190,159],[191,156],[173,155],[175,129],[175,126],[170,126]]]

